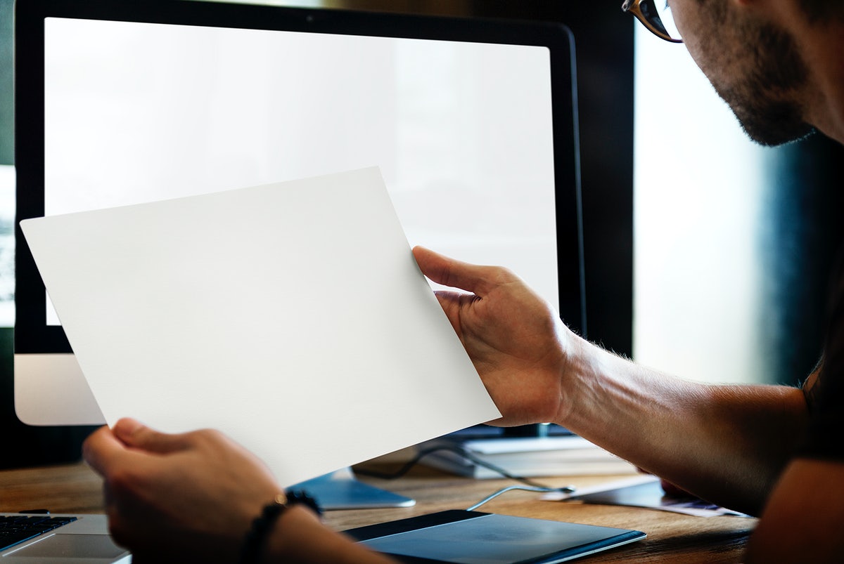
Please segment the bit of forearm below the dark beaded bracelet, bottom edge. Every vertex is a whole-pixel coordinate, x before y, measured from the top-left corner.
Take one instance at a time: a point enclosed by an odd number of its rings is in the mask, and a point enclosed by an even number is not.
[[[327,529],[306,508],[284,512],[270,532],[261,552],[262,564],[390,564],[387,556],[369,551],[343,534]]]

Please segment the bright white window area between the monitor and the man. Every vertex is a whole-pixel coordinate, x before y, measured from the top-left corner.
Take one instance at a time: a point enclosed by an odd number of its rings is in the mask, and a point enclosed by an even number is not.
[[[688,379],[756,382],[765,149],[683,46],[636,25],[633,352]]]

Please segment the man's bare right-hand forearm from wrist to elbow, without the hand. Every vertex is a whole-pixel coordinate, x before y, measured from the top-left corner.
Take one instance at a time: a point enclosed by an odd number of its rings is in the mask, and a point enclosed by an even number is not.
[[[760,512],[806,425],[800,389],[696,384],[575,346],[564,427],[711,502]]]

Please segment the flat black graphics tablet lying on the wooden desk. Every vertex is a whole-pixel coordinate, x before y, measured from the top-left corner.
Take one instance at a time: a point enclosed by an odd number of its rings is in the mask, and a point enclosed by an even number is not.
[[[454,509],[345,534],[402,562],[551,564],[645,538],[641,531]]]

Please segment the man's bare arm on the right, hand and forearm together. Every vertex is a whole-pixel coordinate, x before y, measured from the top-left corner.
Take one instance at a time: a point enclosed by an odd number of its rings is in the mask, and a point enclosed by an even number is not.
[[[711,502],[758,514],[807,414],[799,389],[707,386],[630,363],[575,336],[505,269],[421,248],[426,276],[504,417],[557,422]]]

